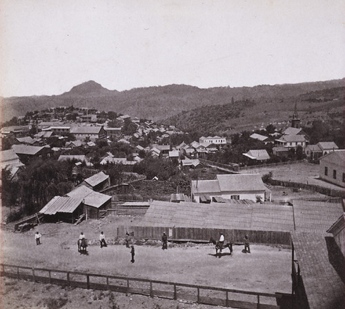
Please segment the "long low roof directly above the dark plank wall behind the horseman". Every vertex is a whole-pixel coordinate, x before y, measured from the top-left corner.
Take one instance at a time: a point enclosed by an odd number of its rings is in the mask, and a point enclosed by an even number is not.
[[[290,206],[244,200],[228,203],[170,203],[153,201],[141,221],[145,226],[230,228],[239,230],[293,230]]]

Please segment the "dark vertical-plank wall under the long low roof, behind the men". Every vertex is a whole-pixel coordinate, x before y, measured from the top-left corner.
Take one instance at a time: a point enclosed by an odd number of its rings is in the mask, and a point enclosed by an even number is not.
[[[290,232],[268,230],[235,230],[219,228],[169,228],[161,226],[119,226],[118,237],[124,237],[130,232],[137,239],[161,239],[166,232],[170,241],[200,241],[208,242],[210,238],[218,240],[222,232],[226,242],[242,244],[244,236],[248,235],[250,243],[265,243],[273,245],[291,245]]]

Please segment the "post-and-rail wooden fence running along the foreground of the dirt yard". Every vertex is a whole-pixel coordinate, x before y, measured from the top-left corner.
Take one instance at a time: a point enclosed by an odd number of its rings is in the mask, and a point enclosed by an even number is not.
[[[283,295],[264,292],[214,288],[194,284],[158,281],[150,279],[97,275],[86,272],[70,272],[46,268],[30,268],[1,264],[1,276],[25,279],[40,283],[57,284],[95,290],[146,295],[167,299],[183,299],[196,303],[233,308],[279,309],[277,302]],[[286,295],[291,297],[290,295]]]

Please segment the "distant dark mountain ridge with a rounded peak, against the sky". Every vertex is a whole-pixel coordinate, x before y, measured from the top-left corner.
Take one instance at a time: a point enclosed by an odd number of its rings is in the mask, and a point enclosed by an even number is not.
[[[155,121],[168,119],[181,112],[202,106],[221,106],[235,101],[255,101],[256,104],[280,103],[301,94],[344,86],[345,79],[311,83],[255,87],[218,87],[201,89],[186,85],[135,88],[118,92],[103,88],[95,81],[73,87],[69,92],[52,96],[10,97],[3,99],[3,120],[57,106],[76,106],[114,110],[132,117]],[[282,104],[283,106],[285,104]]]

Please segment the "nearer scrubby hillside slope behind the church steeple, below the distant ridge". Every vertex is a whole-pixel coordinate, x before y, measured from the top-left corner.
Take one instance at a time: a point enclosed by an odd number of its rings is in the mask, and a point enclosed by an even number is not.
[[[277,128],[288,126],[295,109],[302,126],[311,126],[313,121],[322,120],[333,128],[344,124],[345,87],[318,90],[288,99],[260,101],[235,101],[217,106],[203,106],[181,112],[162,121],[186,132],[201,134],[231,134],[243,130],[265,128],[273,123]]]

